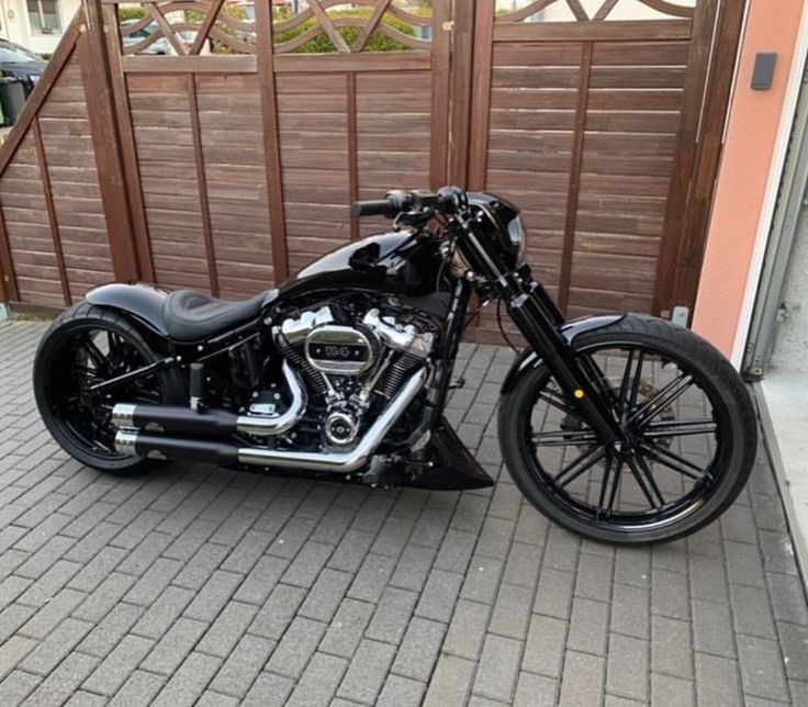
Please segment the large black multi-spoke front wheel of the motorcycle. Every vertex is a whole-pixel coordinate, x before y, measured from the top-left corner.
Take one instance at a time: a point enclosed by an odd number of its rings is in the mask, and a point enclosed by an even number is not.
[[[688,329],[646,316],[580,334],[574,355],[625,430],[605,446],[550,371],[526,368],[500,401],[514,482],[541,513],[594,540],[674,540],[743,489],[758,426],[732,366]]]

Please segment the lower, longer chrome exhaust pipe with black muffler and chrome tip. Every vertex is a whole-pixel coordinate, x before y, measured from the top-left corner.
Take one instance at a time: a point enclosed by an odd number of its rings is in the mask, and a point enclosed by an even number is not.
[[[260,447],[236,447],[215,441],[162,437],[132,429],[122,429],[115,435],[115,449],[122,454],[138,454],[153,459],[188,459],[218,464],[240,463],[276,469],[349,473],[361,469],[370,461],[399,417],[415,400],[427,375],[426,367],[412,375],[368,428],[359,444],[345,452],[278,451]]]

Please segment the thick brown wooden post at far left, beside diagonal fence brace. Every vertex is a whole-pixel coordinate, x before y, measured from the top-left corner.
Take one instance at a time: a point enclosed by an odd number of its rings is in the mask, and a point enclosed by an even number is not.
[[[137,280],[139,268],[100,0],[85,0],[83,10],[87,27],[80,33],[77,48],[112,269],[119,280]]]

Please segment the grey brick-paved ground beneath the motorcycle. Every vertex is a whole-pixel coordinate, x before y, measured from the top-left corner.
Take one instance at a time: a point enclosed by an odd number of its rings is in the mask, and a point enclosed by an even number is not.
[[[761,461],[686,541],[582,542],[492,491],[173,464],[104,476],[43,430],[43,325],[0,325],[0,705],[808,705],[808,608]],[[506,349],[450,415],[490,471]]]

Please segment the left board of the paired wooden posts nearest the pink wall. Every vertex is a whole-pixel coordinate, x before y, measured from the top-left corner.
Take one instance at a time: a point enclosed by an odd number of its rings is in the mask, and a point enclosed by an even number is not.
[[[656,282],[652,304],[652,313],[656,315],[670,315],[675,303],[673,280],[696,158],[696,138],[702,117],[707,65],[717,11],[716,0],[700,0],[696,4],[696,15],[693,21],[694,34],[687,55],[682,119],[673,158],[671,187],[667,192],[664,232],[656,263]]]

